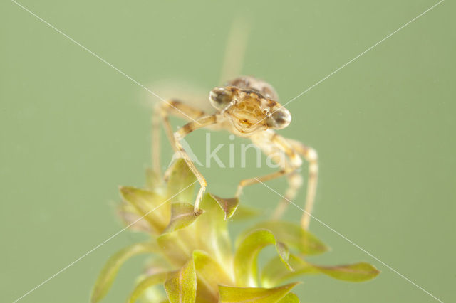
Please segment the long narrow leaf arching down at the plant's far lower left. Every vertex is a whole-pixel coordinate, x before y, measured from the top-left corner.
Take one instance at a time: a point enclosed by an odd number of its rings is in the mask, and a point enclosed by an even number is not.
[[[101,270],[100,275],[98,275],[98,279],[93,286],[90,302],[99,302],[100,299],[105,297],[113,284],[120,266],[122,266],[126,260],[130,259],[130,257],[133,257],[134,255],[156,251],[157,248],[155,243],[146,242],[135,243],[115,253],[115,255],[109,258],[108,262],[106,262],[105,266]]]

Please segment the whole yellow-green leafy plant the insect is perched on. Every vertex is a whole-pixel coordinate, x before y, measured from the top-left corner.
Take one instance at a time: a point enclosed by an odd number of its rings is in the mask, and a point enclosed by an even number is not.
[[[307,262],[307,255],[328,248],[299,224],[285,221],[266,220],[244,230],[232,250],[227,224],[252,218],[255,212],[238,206],[236,199],[207,194],[204,211],[195,214],[187,203],[193,200],[195,181],[179,159],[166,184],[149,173],[147,188],[120,188],[121,217],[129,225],[135,222],[130,228],[149,233],[151,239],[110,257],[95,282],[92,302],[103,299],[126,260],[142,253],[152,258],[128,302],[299,302],[290,292],[298,282],[285,283],[300,275],[323,274],[351,282],[378,275],[366,262],[338,266]],[[277,255],[258,272],[257,256],[267,245],[274,245]]]

